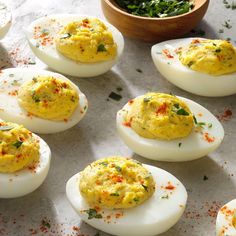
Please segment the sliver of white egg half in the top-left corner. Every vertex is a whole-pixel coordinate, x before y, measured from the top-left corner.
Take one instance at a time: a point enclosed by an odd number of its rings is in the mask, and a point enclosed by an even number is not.
[[[11,11],[8,6],[0,1],[0,39],[2,39],[11,27]]]

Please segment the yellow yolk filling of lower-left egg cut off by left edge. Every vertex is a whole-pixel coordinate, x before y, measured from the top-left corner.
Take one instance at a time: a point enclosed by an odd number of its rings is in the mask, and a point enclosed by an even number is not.
[[[0,122],[0,173],[12,173],[39,160],[39,143],[22,125]]]

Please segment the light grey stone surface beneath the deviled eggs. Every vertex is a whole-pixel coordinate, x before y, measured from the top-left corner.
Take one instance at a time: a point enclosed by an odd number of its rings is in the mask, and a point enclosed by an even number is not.
[[[228,0],[232,2],[231,0]],[[0,68],[24,67],[35,61],[24,36],[24,27],[34,19],[52,13],[82,13],[103,17],[98,0],[5,0],[13,13],[13,26],[0,42]],[[230,19],[232,28],[222,26]],[[197,29],[206,37],[236,40],[236,10],[226,9],[222,0],[211,0],[207,15]],[[224,33],[219,33],[224,29]],[[151,44],[125,39],[124,55],[108,73],[97,78],[72,78],[89,100],[86,117],[73,129],[42,135],[50,145],[52,165],[45,183],[32,194],[12,200],[0,199],[0,235],[100,235],[107,234],[82,223],[65,197],[65,183],[89,162],[108,155],[134,157],[164,168],[178,177],[189,194],[181,220],[163,236],[210,236],[215,234],[215,216],[220,205],[236,196],[236,96],[205,98],[189,94],[167,82],[155,69],[150,56]],[[32,66],[32,65],[31,65]],[[33,67],[45,68],[36,59]],[[136,69],[141,69],[142,73]],[[120,101],[107,101],[111,91],[122,87]],[[117,110],[127,100],[147,91],[172,92],[195,100],[215,115],[230,108],[231,119],[222,121],[225,139],[208,157],[186,163],[149,161],[133,154],[119,139],[115,129]],[[204,175],[208,180],[203,180]],[[1,187],[1,186],[0,186]],[[42,220],[51,227],[42,232]],[[76,230],[80,227],[80,230]],[[73,228],[74,227],[74,228]],[[31,230],[32,229],[32,230]],[[127,236],[129,234],[127,233]],[[144,235],[145,236],[145,235]]]

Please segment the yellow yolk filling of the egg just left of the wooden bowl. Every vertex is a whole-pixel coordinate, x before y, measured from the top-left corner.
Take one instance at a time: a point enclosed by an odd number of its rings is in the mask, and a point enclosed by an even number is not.
[[[77,62],[102,62],[112,60],[117,55],[112,33],[98,19],[83,19],[67,24],[55,42],[61,54]]]

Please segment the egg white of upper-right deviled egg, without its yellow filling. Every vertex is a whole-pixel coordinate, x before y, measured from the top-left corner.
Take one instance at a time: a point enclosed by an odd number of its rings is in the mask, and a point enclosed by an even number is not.
[[[151,55],[159,72],[171,83],[190,93],[206,97],[222,97],[236,93],[236,73],[213,76],[184,66],[175,50],[190,44],[193,39],[174,39],[152,46]],[[198,38],[199,39],[199,38]],[[169,50],[173,58],[162,51]]]

